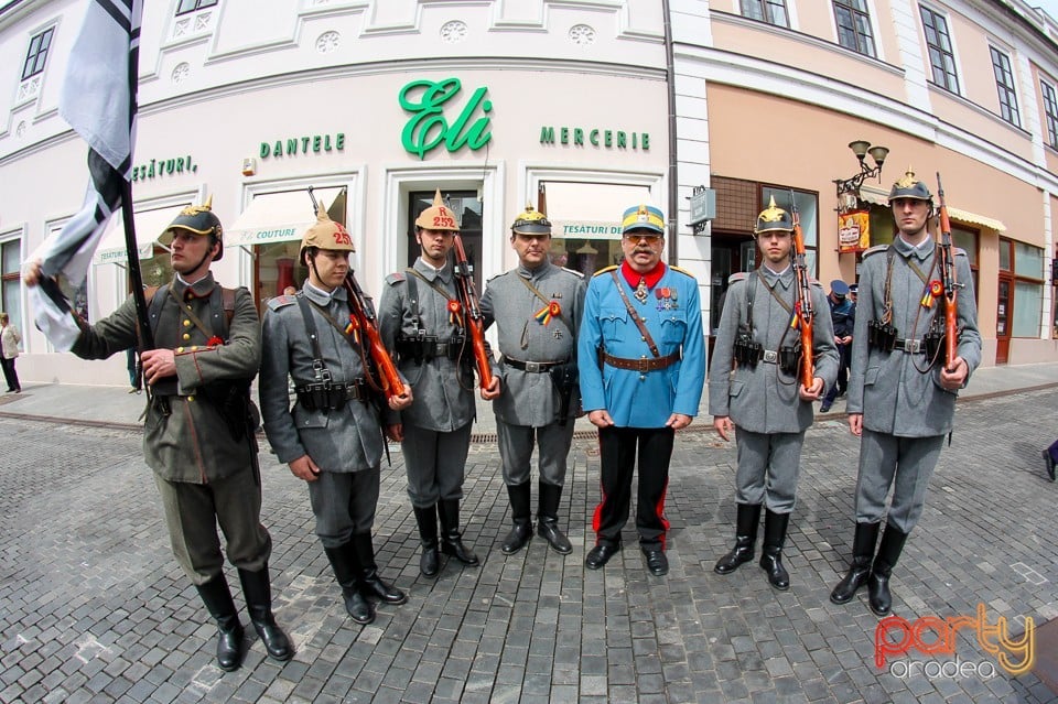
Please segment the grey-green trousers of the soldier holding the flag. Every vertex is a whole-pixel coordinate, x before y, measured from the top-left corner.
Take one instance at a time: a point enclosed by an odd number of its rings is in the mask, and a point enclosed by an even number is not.
[[[155,474],[154,484],[173,554],[193,583],[205,584],[224,570],[217,524],[231,564],[248,572],[260,572],[268,564],[272,539],[261,526],[261,486],[252,470],[209,484],[168,481]]]

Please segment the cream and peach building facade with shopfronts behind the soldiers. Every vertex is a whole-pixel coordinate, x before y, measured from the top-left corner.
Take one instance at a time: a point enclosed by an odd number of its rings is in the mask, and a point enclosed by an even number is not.
[[[87,180],[86,145],[57,112],[86,4],[0,8],[0,305],[23,329],[19,266],[77,212]],[[591,273],[619,258],[622,210],[648,202],[670,218],[669,260],[698,277],[715,325],[727,277],[757,260],[752,227],[771,195],[796,198],[816,275],[852,282],[857,246],[892,239],[885,194],[910,164],[931,187],[943,176],[985,364],[1052,359],[1055,36],[1013,0],[151,2],[141,267],[149,282],[170,275],[153,238],[212,195],[226,243],[215,272],[263,306],[304,277],[311,187],[378,295],[417,256],[412,221],[440,188],[479,282],[515,264],[508,228],[527,202],[555,223],[552,259]],[[834,181],[860,172],[855,140],[888,155],[881,178],[841,201],[862,237],[839,252],[856,228],[839,226]],[[699,212],[702,193],[714,209]],[[115,219],[72,292],[89,319],[128,294]],[[26,380],[126,382],[123,359],[87,365],[26,333]]]

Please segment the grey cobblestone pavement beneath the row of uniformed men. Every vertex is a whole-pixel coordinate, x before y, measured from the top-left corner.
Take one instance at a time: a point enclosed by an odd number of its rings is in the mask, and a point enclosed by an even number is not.
[[[1052,390],[960,404],[894,571],[899,616],[973,616],[984,604],[990,624],[1006,617],[1015,633],[1026,616],[1058,617],[1058,485],[1039,456],[1056,416]],[[936,674],[952,656],[875,665],[878,621],[866,596],[844,607],[828,599],[850,555],[857,454],[838,421],[817,424],[806,442],[785,559],[790,591],[773,591],[755,563],[714,574],[732,542],[735,453],[701,431],[705,422],[677,442],[663,578],[646,572],[630,530],[605,570],[585,570],[598,498],[592,440],[575,442],[563,496],[573,553],[536,538],[505,557],[507,501],[485,437],[472,446],[464,503],[466,542],[483,563],[450,562],[425,580],[396,453],[382,473],[376,544],[384,576],[410,600],[379,608],[363,628],[345,615],[304,486],[266,447],[276,611],[298,653],[277,663],[251,636],[242,668],[224,673],[213,664],[216,629],[170,554],[139,435],[0,418],[0,701],[1055,701],[1033,674],[1007,675],[968,628],[954,641],[954,657],[978,668],[968,676],[929,674],[926,664]],[[909,662],[919,670],[906,674]]]

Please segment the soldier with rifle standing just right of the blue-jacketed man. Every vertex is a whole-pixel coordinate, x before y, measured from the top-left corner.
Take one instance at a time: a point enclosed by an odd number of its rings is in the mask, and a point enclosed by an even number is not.
[[[788,589],[782,545],[797,498],[801,445],[812,424],[812,402],[838,376],[838,350],[827,296],[811,282],[814,378],[800,381],[799,331],[791,327],[798,301],[792,266],[790,214],[770,206],[757,216],[754,232],[764,253],[753,273],[731,278],[710,368],[709,412],[727,440],[737,427],[735,546],[713,567],[731,574],[753,560],[760,507],[765,508],[760,566],[777,589]],[[801,350],[801,354],[805,354]]]

